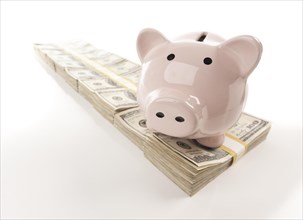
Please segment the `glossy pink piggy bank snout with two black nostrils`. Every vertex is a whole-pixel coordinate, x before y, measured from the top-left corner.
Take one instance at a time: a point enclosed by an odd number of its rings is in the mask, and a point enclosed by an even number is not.
[[[174,98],[158,98],[146,109],[149,129],[174,136],[186,137],[197,127],[197,116],[186,102]]]

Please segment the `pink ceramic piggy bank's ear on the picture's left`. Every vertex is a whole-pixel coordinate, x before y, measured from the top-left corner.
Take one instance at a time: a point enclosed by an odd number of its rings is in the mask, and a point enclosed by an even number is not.
[[[154,47],[168,43],[169,41],[155,29],[144,29],[137,38],[137,52],[141,62],[148,52]]]

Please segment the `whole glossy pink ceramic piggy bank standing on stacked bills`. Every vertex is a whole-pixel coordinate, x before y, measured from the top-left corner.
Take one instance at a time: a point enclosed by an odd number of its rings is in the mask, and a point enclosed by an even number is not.
[[[147,128],[210,148],[222,145],[245,105],[261,43],[248,35],[224,40],[207,32],[170,41],[144,29],[137,52],[142,62],[137,100]]]

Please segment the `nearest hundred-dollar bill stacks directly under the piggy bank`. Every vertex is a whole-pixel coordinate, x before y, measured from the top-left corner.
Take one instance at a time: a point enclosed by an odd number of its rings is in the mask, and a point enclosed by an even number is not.
[[[149,132],[138,108],[117,114],[115,126],[141,146],[145,157],[188,195],[195,194],[239,159],[228,151],[229,145],[233,142],[242,145],[238,157],[243,156],[263,141],[270,129],[269,122],[242,113],[238,122],[226,132],[223,146],[210,149],[195,140]]]

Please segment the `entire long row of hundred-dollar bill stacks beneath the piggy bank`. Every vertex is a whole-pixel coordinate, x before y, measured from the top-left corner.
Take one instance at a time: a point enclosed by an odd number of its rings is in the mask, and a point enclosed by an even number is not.
[[[190,196],[262,142],[270,130],[270,122],[242,113],[217,149],[205,148],[195,140],[152,133],[136,101],[140,65],[83,41],[35,44],[34,49]]]

